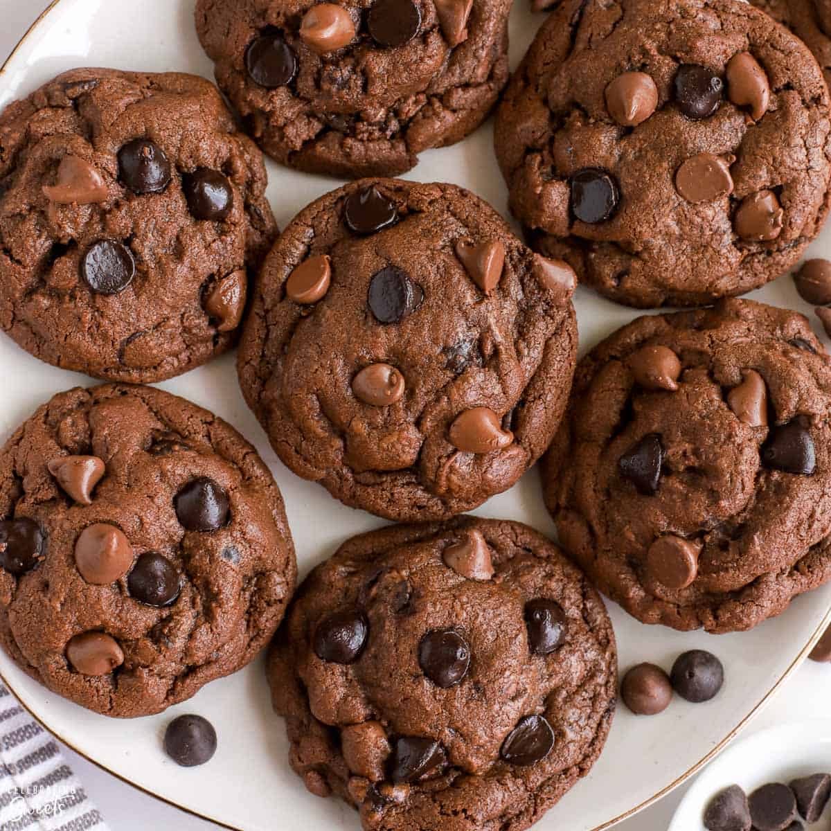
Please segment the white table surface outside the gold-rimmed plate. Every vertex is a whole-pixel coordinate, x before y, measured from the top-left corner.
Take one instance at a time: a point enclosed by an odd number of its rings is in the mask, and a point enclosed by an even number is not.
[[[140,0],[136,0],[140,2]],[[526,0],[516,0],[526,2]],[[37,17],[44,0],[0,0],[0,56],[3,59]],[[730,672],[730,666],[725,667]],[[757,716],[748,732],[760,730],[786,720],[802,720],[814,715],[829,715],[831,692],[831,664],[820,665],[810,661],[788,682],[767,709]],[[657,716],[660,717],[660,716]],[[275,730],[280,729],[278,721]],[[212,823],[195,819],[188,814],[152,799],[99,770],[80,756],[64,748],[69,764],[96,801],[113,831],[147,831],[147,829],[176,829],[176,831],[209,831]],[[298,782],[298,787],[300,786]],[[617,825],[616,831],[666,831],[676,805],[686,788],[666,796],[654,807],[633,819]],[[229,794],[230,796],[230,794]],[[231,797],[233,798],[233,797]],[[356,829],[359,828],[356,821]]]

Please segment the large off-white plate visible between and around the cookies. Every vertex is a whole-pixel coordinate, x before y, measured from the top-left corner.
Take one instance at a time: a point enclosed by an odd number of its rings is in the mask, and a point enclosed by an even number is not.
[[[514,66],[542,20],[527,11],[527,4],[527,0],[517,0],[511,18]],[[0,74],[0,106],[73,66],[190,71],[212,77],[212,68],[194,34],[193,7],[194,0],[56,0]],[[504,210],[507,194],[491,142],[487,125],[460,145],[425,153],[410,178],[464,185]],[[269,174],[268,194],[281,227],[305,204],[337,185],[332,179],[271,164]],[[831,255],[831,229],[813,253]],[[767,302],[811,311],[801,304],[788,278],[756,295]],[[578,291],[576,302],[583,350],[636,316],[583,289]],[[0,440],[55,392],[91,384],[84,376],[35,360],[2,336],[0,366],[4,387]],[[279,463],[239,394],[233,357],[225,356],[161,386],[223,416],[257,445],[283,490],[302,575],[344,539],[382,524],[368,514],[343,507],[322,488],[297,479]],[[476,513],[519,519],[553,534],[535,472]],[[801,597],[789,612],[754,632],[719,638],[645,627],[612,607],[623,667],[650,660],[668,668],[679,652],[703,647],[724,661],[725,688],[711,704],[692,706],[676,701],[664,715],[653,719],[638,720],[621,708],[607,748],[591,774],[539,828],[605,828],[695,772],[735,735],[804,657],[819,636],[829,604],[831,587]],[[289,770],[283,723],[270,710],[261,661],[236,676],[215,681],[192,701],[165,715],[132,721],[110,720],[63,701],[29,680],[5,656],[0,656],[0,672],[32,713],[67,744],[131,784],[181,808],[244,831],[358,828],[351,809],[335,799],[307,794]],[[217,755],[197,770],[176,767],[160,747],[167,721],[190,711],[208,717],[219,732]]]

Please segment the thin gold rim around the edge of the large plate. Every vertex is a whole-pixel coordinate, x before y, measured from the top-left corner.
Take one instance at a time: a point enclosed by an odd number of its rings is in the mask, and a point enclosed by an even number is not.
[[[35,34],[37,28],[40,27],[41,23],[47,19],[50,12],[52,12],[60,2],[61,0],[52,0],[52,2],[50,2],[49,5],[37,17],[37,20],[32,23],[32,26],[30,26],[27,29],[27,32],[23,35],[23,37],[21,37],[21,39],[17,42],[17,45],[12,49],[12,52],[9,54],[6,60],[3,61],[2,66],[0,66],[0,81],[2,81],[2,77],[4,76],[7,70],[9,62],[12,61],[12,58],[15,57],[15,55],[17,55],[17,52],[20,49],[20,47],[22,47],[23,43],[26,42],[30,36]],[[794,661],[790,664],[790,666],[782,673],[782,675],[779,677],[779,680],[776,681],[774,686],[770,687],[770,690],[768,690],[765,693],[765,696],[763,696],[760,699],[760,701],[758,701],[755,704],[753,709],[747,715],[745,715],[745,717],[742,720],[740,720],[739,724],[735,725],[733,730],[730,730],[730,732],[725,736],[725,738],[722,739],[718,743],[718,745],[715,745],[715,747],[706,756],[704,756],[701,760],[696,762],[696,764],[693,765],[689,770],[686,770],[685,773],[681,774],[681,776],[675,779],[675,781],[666,785],[666,787],[658,791],[658,793],[653,794],[649,799],[646,799],[641,804],[638,804],[634,808],[629,809],[625,814],[621,814],[619,817],[615,817],[614,819],[610,819],[602,825],[598,825],[597,828],[592,829],[592,831],[604,831],[604,829],[612,828],[612,825],[620,823],[624,819],[630,819],[643,809],[646,809],[650,805],[655,804],[659,799],[666,796],[666,794],[669,794],[672,790],[675,790],[679,785],[686,782],[687,779],[690,779],[691,776],[697,774],[698,771],[701,770],[701,768],[707,765],[716,755],[718,755],[722,750],[724,750],[725,747],[729,745],[732,740],[735,739],[736,735],[738,735],[740,731],[743,728],[745,728],[746,725],[748,725],[750,720],[752,720],[753,717],[762,709],[762,707],[765,706],[765,704],[767,704],[768,701],[770,701],[774,694],[779,691],[779,688],[784,684],[785,681],[789,679],[791,675],[793,675],[794,671],[799,666],[799,664],[801,664],[802,661],[804,661],[804,659],[808,656],[808,653],[814,648],[814,644],[817,641],[819,641],[819,638],[822,637],[823,632],[827,627],[829,627],[829,625],[831,625],[831,608],[829,608],[829,611],[826,612],[823,622],[819,624],[819,627],[817,628],[816,632],[814,632],[814,634],[809,638],[809,642],[805,645],[802,651],[799,652],[799,655],[797,655],[794,658]],[[246,829],[238,829],[234,825],[228,825],[223,822],[220,822],[218,819],[214,819],[214,817],[209,817],[207,814],[200,814],[199,811],[194,810],[192,808],[187,808],[184,805],[179,805],[171,801],[170,799],[167,799],[167,797],[165,796],[155,794],[153,791],[146,789],[143,785],[132,781],[132,779],[127,779],[124,775],[119,774],[115,770],[108,768],[101,762],[96,761],[91,756],[87,755],[83,750],[79,750],[75,745],[72,745],[70,741],[67,741],[65,738],[63,738],[63,736],[61,736],[61,734],[58,733],[56,730],[52,730],[52,728],[49,725],[47,725],[46,721],[42,720],[42,718],[39,715],[37,715],[37,713],[33,712],[32,709],[21,700],[20,693],[14,688],[14,686],[7,679],[7,677],[3,676],[2,671],[0,671],[0,680],[2,680],[8,687],[8,689],[12,691],[12,693],[17,697],[17,700],[20,701],[20,704],[23,707],[23,709],[27,711],[27,713],[31,715],[32,718],[36,720],[37,723],[41,725],[44,730],[47,730],[49,733],[55,736],[57,740],[60,740],[70,750],[75,752],[77,755],[81,756],[82,759],[86,759],[86,761],[91,762],[92,765],[96,765],[97,768],[104,770],[106,773],[111,774],[111,776],[115,776],[116,779],[119,779],[124,784],[129,784],[130,787],[135,788],[136,790],[140,790],[141,793],[147,794],[148,796],[153,797],[153,799],[158,799],[160,802],[170,805],[171,808],[184,811],[185,814],[190,814],[191,816],[196,817],[197,819],[204,819],[209,823],[214,823],[214,825],[218,825],[219,828],[229,829],[229,831],[246,831]],[[556,810],[556,808],[554,810]]]

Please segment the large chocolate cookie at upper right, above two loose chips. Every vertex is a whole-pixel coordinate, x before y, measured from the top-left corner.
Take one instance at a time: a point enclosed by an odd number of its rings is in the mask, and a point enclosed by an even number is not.
[[[496,124],[533,247],[637,307],[750,291],[829,207],[829,92],[804,45],[734,0],[566,0]]]

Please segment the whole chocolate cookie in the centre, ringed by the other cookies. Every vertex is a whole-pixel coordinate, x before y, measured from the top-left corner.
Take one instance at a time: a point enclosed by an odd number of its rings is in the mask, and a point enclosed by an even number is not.
[[[297,475],[389,519],[445,519],[511,487],[553,438],[574,283],[468,191],[356,182],[268,255],[240,384]]]

